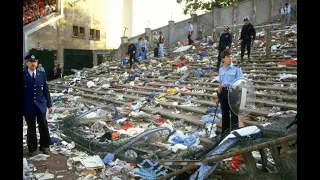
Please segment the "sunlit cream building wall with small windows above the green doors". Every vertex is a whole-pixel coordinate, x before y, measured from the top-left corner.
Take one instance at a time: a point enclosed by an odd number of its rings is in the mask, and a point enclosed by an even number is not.
[[[73,6],[64,1],[64,18],[28,37],[29,49],[40,42],[44,49],[57,50],[57,60],[63,64],[64,49],[106,49],[105,0],[78,1]],[[73,26],[84,27],[85,37],[73,37]],[[100,30],[100,40],[90,40],[90,29]]]

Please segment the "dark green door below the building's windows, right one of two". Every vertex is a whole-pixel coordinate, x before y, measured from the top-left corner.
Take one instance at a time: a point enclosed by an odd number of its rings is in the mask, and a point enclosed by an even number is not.
[[[71,69],[93,67],[92,50],[64,49],[64,74],[71,73]]]

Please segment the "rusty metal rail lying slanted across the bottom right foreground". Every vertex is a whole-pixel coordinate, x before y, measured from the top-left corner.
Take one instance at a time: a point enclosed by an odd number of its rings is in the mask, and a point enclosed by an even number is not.
[[[269,142],[264,142],[264,143],[260,143],[260,144],[257,144],[257,145],[254,145],[254,146],[251,146],[251,147],[248,147],[248,148],[244,148],[244,149],[241,149],[239,151],[231,152],[231,153],[224,154],[224,155],[221,155],[221,156],[216,156],[214,158],[207,159],[207,160],[202,161],[202,162],[203,163],[213,163],[213,162],[221,161],[223,159],[227,159],[229,157],[241,155],[241,154],[246,153],[246,152],[252,152],[252,151],[259,150],[259,149],[268,148],[268,147],[271,147],[273,145],[281,144],[281,143],[286,142],[286,141],[295,140],[296,138],[297,138],[297,133],[294,133],[294,134],[291,134],[289,136],[285,136],[285,137],[278,138],[278,139],[275,139],[275,140],[272,140],[272,141],[269,141]],[[198,164],[199,162],[201,162],[201,161],[184,161],[184,162],[181,162],[181,161],[171,160],[171,161],[159,161],[159,164],[160,165],[189,165],[189,164]],[[199,165],[188,166],[186,168],[183,168],[183,169],[174,171],[172,173],[169,173],[169,174],[167,174],[165,176],[158,177],[157,180],[169,179],[169,178],[171,178],[173,176],[177,176],[177,175],[182,174],[184,172],[197,169],[198,167],[199,167]]]

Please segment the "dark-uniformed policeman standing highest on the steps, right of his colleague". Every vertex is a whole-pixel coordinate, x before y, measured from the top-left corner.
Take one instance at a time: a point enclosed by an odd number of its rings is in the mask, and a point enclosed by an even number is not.
[[[244,25],[241,29],[240,43],[241,43],[241,62],[243,62],[244,48],[247,46],[248,60],[250,62],[250,48],[251,43],[256,39],[256,30],[249,22],[248,17],[243,18]]]

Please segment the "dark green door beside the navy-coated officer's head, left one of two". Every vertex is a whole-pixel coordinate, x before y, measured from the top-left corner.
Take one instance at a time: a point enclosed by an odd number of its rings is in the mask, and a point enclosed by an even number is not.
[[[30,50],[30,54],[38,56],[38,63],[42,64],[42,67],[46,71],[47,80],[53,79],[53,67],[54,67],[54,54],[52,51],[43,50],[37,51],[35,49]]]

